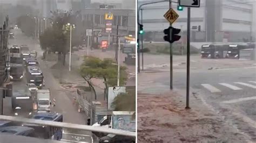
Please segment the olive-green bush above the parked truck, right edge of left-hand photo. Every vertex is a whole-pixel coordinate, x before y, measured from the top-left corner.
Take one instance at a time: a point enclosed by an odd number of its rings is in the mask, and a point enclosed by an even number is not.
[[[136,111],[135,92],[119,94],[114,98],[111,106],[114,108],[114,111]]]

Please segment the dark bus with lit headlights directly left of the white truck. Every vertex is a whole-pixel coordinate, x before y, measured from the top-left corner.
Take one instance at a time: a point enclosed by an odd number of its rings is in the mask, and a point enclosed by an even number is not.
[[[33,99],[28,88],[15,91],[11,97],[12,111],[15,116],[31,118],[33,113]]]

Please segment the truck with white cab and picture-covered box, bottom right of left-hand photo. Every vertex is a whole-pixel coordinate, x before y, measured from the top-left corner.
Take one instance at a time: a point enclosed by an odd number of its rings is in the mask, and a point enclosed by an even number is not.
[[[98,123],[93,124],[94,127],[106,127],[117,130],[136,131],[135,112],[132,111],[113,111],[112,115],[106,115]],[[97,137],[104,137],[107,134],[92,132]]]

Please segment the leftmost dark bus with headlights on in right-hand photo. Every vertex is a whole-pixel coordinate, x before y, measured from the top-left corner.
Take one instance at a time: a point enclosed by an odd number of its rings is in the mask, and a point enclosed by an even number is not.
[[[227,54],[227,47],[225,45],[202,45],[201,58],[219,59],[225,58]]]

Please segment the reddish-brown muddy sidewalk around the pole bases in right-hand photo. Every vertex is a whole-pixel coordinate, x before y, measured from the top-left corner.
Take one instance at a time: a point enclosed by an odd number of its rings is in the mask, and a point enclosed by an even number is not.
[[[247,142],[199,97],[185,109],[184,91],[138,94],[138,142]]]

